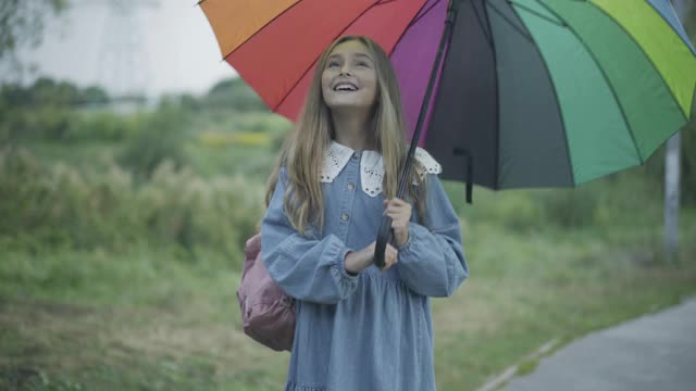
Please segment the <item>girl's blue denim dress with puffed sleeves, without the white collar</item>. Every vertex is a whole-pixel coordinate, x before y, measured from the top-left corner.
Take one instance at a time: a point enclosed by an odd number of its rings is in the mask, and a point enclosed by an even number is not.
[[[384,211],[384,195],[361,188],[361,153],[322,184],[321,234],[298,234],[283,213],[285,168],[262,222],[263,262],[297,299],[286,391],[435,390],[430,297],[451,295],[469,275],[459,219],[437,175],[427,174],[425,226],[413,207],[398,263],[348,275],[346,254],[375,241]]]

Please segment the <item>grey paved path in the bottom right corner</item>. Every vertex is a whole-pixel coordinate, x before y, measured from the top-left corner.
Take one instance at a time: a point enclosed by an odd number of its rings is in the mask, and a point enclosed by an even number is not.
[[[696,299],[579,339],[504,390],[696,390]]]

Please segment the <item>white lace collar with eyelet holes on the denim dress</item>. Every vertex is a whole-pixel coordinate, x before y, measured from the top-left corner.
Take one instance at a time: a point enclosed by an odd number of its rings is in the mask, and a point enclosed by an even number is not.
[[[349,147],[332,141],[324,159],[320,180],[322,182],[333,182],[340,174],[344,167],[356,153]],[[415,149],[415,160],[420,164],[413,164],[413,168],[418,172],[421,179],[426,174],[442,173],[440,165],[422,148]],[[370,197],[377,197],[382,193],[382,179],[384,178],[384,164],[382,163],[382,154],[377,151],[362,151],[360,159],[360,184],[362,191]]]

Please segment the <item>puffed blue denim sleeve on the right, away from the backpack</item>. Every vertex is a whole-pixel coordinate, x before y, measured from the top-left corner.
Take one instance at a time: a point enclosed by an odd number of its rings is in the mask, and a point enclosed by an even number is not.
[[[437,175],[428,174],[425,186],[426,227],[409,223],[409,240],[398,249],[396,267],[401,280],[417,293],[450,297],[469,276],[459,217]]]

